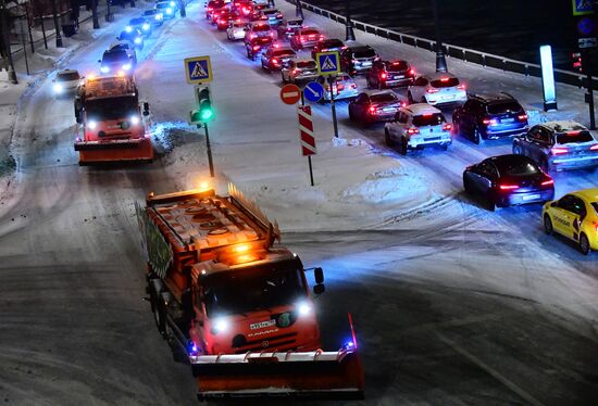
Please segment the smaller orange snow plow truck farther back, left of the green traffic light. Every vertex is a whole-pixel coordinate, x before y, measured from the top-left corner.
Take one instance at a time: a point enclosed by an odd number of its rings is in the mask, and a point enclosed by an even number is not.
[[[133,77],[87,78],[75,98],[79,165],[153,160],[149,105],[139,106]]]

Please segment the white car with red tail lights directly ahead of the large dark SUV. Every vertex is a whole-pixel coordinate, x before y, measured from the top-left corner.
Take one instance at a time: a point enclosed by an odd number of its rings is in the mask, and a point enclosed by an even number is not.
[[[419,76],[407,89],[409,103],[427,103],[429,105],[461,103],[468,101],[465,85],[457,76],[447,72]]]

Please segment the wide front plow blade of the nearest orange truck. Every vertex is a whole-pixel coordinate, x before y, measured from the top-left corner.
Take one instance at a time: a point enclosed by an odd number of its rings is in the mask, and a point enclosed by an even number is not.
[[[364,377],[352,350],[190,356],[200,401],[292,396],[363,398]]]

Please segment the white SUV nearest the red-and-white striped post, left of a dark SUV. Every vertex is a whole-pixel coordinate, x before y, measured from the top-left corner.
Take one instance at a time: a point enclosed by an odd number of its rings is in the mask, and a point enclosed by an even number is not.
[[[388,147],[398,147],[401,155],[412,149],[440,147],[445,151],[452,144],[451,125],[438,109],[415,103],[401,107],[395,120],[384,126],[384,139]]]

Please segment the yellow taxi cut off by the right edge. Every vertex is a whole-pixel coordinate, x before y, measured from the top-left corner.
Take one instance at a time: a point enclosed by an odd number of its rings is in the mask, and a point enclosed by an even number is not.
[[[558,232],[575,241],[584,255],[598,251],[598,188],[547,202],[541,216],[547,234]]]

